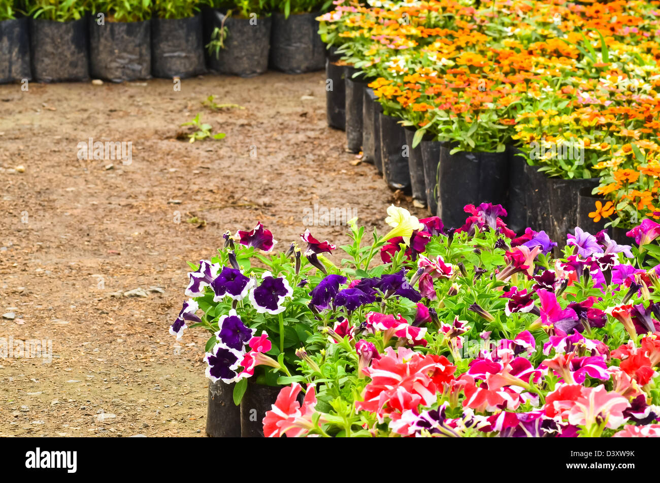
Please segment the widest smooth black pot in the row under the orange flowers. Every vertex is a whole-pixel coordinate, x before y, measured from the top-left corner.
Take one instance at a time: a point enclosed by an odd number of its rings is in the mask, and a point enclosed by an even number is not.
[[[465,205],[506,204],[509,159],[503,152],[449,154],[451,146],[440,148],[438,216],[445,226],[458,228],[467,218]]]

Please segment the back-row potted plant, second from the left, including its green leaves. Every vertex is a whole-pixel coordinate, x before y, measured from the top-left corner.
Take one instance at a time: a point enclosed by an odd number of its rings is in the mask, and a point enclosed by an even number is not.
[[[25,0],[24,5],[30,16],[30,59],[36,81],[86,81],[86,5],[71,0]]]

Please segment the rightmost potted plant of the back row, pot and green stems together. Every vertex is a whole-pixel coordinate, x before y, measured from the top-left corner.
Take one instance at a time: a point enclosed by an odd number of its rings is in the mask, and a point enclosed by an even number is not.
[[[319,71],[325,46],[317,33],[316,17],[329,1],[272,0],[273,29],[269,65],[288,74]]]

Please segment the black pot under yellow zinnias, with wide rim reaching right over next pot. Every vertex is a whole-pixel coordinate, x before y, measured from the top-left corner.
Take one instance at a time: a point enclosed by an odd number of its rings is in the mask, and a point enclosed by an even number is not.
[[[598,181],[598,178],[548,178],[552,236],[559,248],[566,245],[566,234],[575,234],[575,228],[578,226],[579,190],[585,187],[593,189],[598,185]]]

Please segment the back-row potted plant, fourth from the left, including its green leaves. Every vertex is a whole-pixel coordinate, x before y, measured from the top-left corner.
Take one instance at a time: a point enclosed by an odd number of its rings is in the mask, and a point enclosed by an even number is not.
[[[193,77],[205,71],[200,0],[153,0],[154,77]]]

